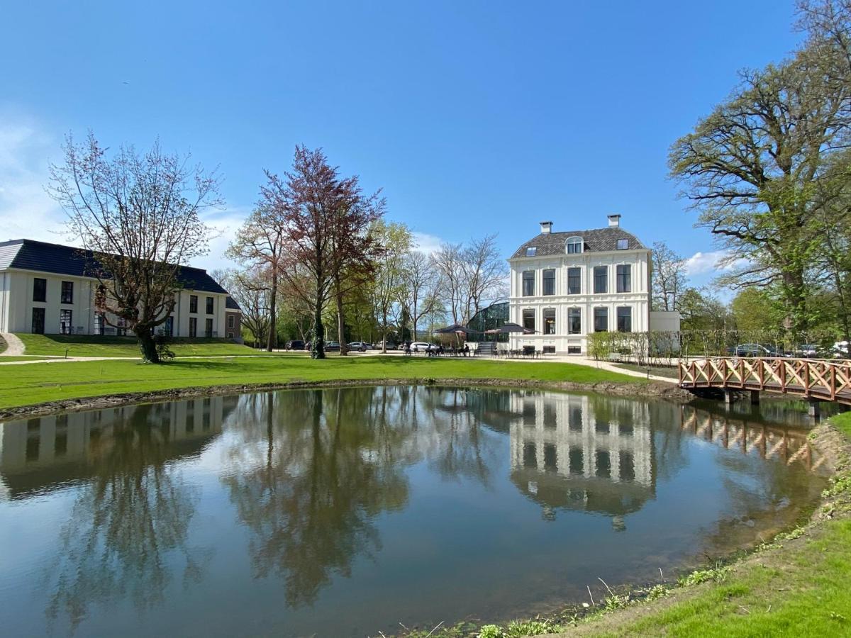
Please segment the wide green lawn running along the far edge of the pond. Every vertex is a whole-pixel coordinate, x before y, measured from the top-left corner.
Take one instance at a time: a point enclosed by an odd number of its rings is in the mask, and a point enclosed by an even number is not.
[[[43,363],[0,367],[0,408],[84,396],[209,385],[337,379],[535,379],[591,384],[644,383],[642,379],[575,363],[500,362],[402,356],[306,356],[182,359],[162,365],[134,361]]]

